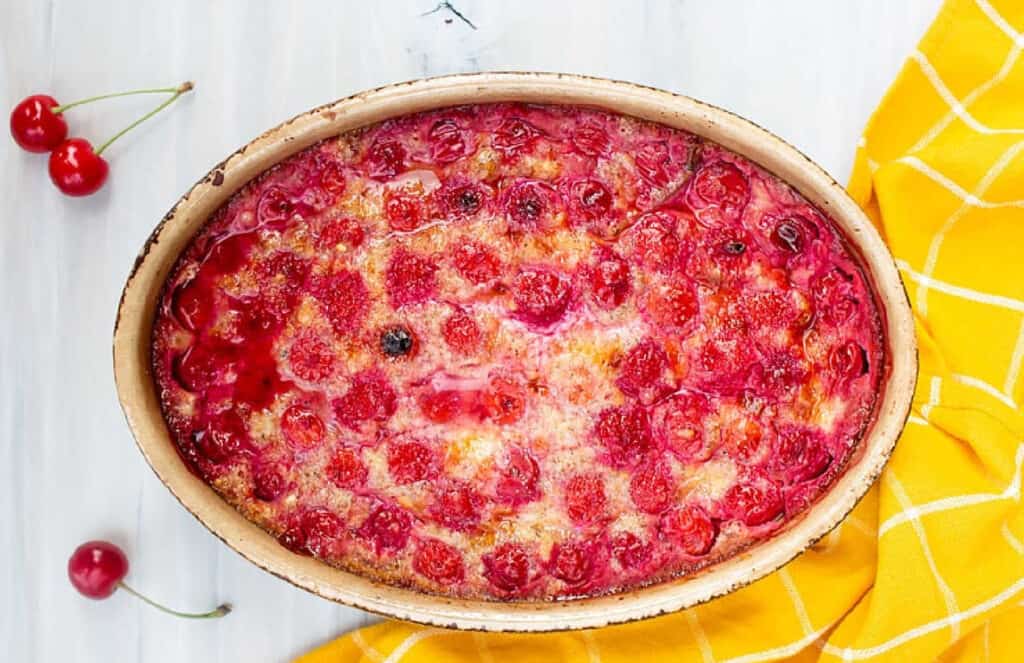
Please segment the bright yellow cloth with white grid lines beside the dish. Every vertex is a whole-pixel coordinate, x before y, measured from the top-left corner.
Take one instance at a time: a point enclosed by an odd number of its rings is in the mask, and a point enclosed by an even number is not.
[[[918,316],[912,416],[879,485],[781,571],[593,631],[385,622],[300,659],[1024,660],[1024,2],[950,0],[876,112],[854,198]]]

